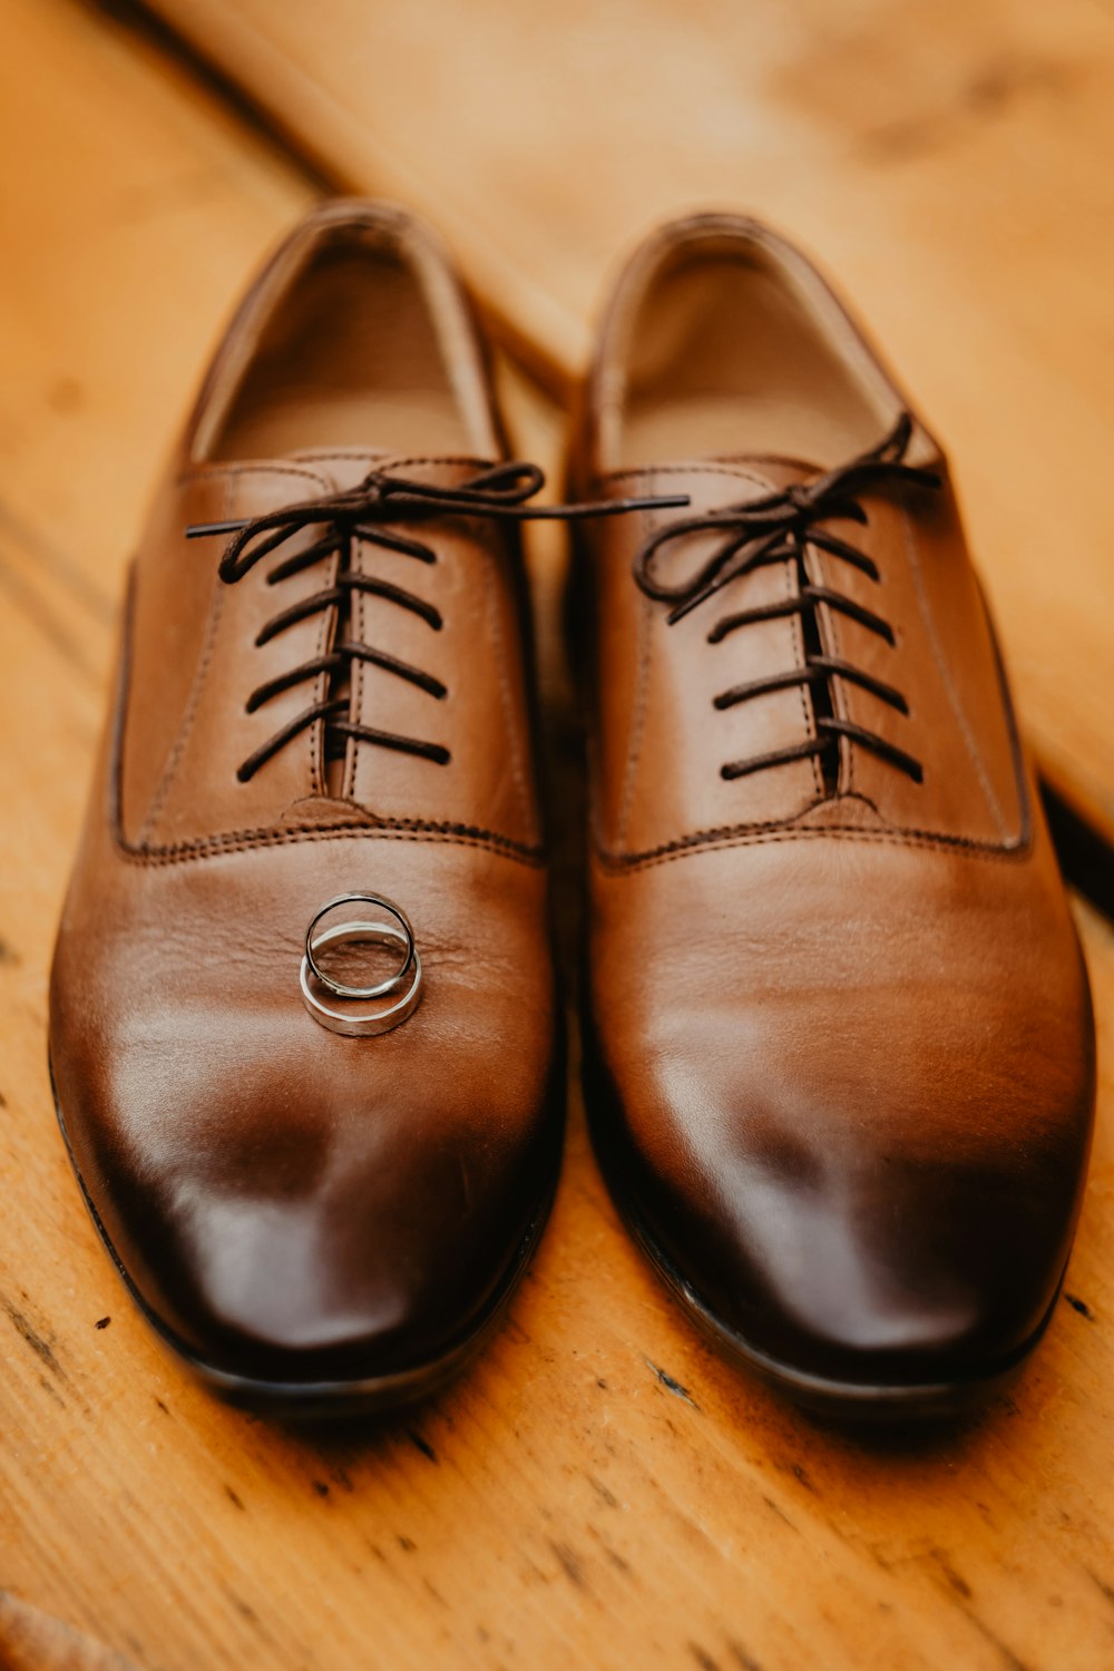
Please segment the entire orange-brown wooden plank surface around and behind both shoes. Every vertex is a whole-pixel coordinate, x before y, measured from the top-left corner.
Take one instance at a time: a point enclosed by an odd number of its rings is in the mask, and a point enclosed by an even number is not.
[[[194,0],[195,13],[207,3]],[[676,55],[690,25],[706,32],[718,17],[735,28],[743,10],[773,28],[772,5],[717,13],[693,3],[666,13],[646,0],[640,15]],[[840,75],[822,74],[818,47],[807,72],[785,48],[778,99],[795,100],[793,137],[773,124],[763,140],[770,107],[758,104],[737,114],[738,144],[755,155],[768,145],[770,170],[798,179],[803,204],[817,125],[855,127],[845,160],[873,167],[882,184],[870,202],[865,187],[852,192],[847,214],[852,226],[873,227],[873,244],[858,249],[848,227],[838,231],[825,179],[808,197],[815,216],[803,231],[877,309],[932,416],[964,439],[960,478],[972,510],[987,500],[974,520],[997,541],[994,588],[1046,762],[1056,742],[1081,802],[1097,784],[1109,804],[1114,742],[1099,675],[1109,668],[1112,627],[1094,585],[1106,585],[1109,600],[1097,535],[1102,439],[1114,428],[1102,368],[1114,333],[1109,312],[1099,319],[1097,296],[1114,229],[1099,216],[1107,185],[1097,147],[1106,144],[1111,174],[1114,100],[1102,89],[1114,74],[1114,15],[1082,0],[1047,10],[863,0],[845,8],[842,35],[820,0],[790,10],[783,37],[798,40],[810,20]],[[224,12],[242,20],[252,0],[224,0]],[[448,7],[434,0],[256,7],[261,27],[276,28],[346,12],[374,23],[381,38],[406,37],[426,65],[456,50],[461,72],[474,74],[509,50],[508,33],[526,40],[534,28],[526,20],[541,15],[476,0],[454,8],[449,42]],[[882,12],[894,28],[875,37],[868,25]],[[563,58],[580,52],[595,77],[596,55],[620,50],[631,8],[605,5],[598,25],[590,7],[568,15],[580,45],[563,45]],[[957,53],[979,40],[1004,65],[997,84],[969,89],[959,109],[947,104],[949,77],[965,74],[967,58],[955,69],[934,18],[954,30]],[[575,1091],[563,1183],[533,1272],[491,1350],[443,1397],[379,1427],[297,1432],[214,1404],[149,1337],[85,1218],[55,1130],[45,1064],[50,946],[145,495],[237,287],[317,185],[142,32],[75,0],[0,0],[0,1668],[1109,1671],[1114,932],[1082,902],[1102,1089],[1079,1243],[1029,1374],[970,1425],[865,1444],[795,1415],[725,1367],[621,1233]],[[995,47],[999,35],[1041,50],[1017,57]],[[935,104],[927,92],[912,105],[902,97],[904,53],[914,48]],[[768,62],[770,53],[763,75],[773,74]],[[732,75],[760,69],[710,57],[713,70],[718,122]],[[675,102],[653,112],[666,162],[675,130],[685,155],[695,144],[690,72],[670,74]],[[362,85],[371,117],[408,109],[391,74]],[[494,132],[481,92],[468,99],[469,144]],[[409,132],[441,97],[438,70]],[[630,89],[616,99],[633,122],[641,105]],[[506,216],[503,259],[516,271],[546,221],[534,207],[519,246],[524,232],[503,196],[516,170],[523,194],[529,170],[541,170],[554,222],[581,226],[595,212],[583,199],[596,184],[618,190],[621,174],[621,159],[603,159],[596,180],[580,149],[561,174],[541,115],[533,125],[528,115],[523,95],[506,110],[506,155],[489,157],[493,202]],[[1014,224],[1024,219],[1024,182],[985,196],[989,179],[1005,180],[1009,155],[1022,164],[1029,155],[1022,120],[1059,147],[1064,221],[1081,194],[1092,194],[1096,224],[1074,227],[1079,269],[1062,249],[1039,251],[1032,226]],[[650,114],[638,124],[631,149],[648,144]],[[887,132],[899,152],[892,162],[879,152],[877,135]],[[1042,212],[1052,202],[1041,172],[1049,154],[1032,182]],[[451,170],[448,221],[466,164],[454,144],[441,155]],[[384,150],[381,160],[381,184],[403,192],[399,157]],[[428,142],[414,155],[414,180],[428,185],[434,164]],[[930,187],[924,170],[934,169]],[[376,184],[371,164],[366,179]],[[479,174],[471,179],[448,227],[473,264],[464,222],[469,204],[488,201],[481,184]],[[720,172],[711,196],[723,197],[727,185]],[[902,190],[909,244],[895,236]],[[414,201],[418,187],[406,196]],[[748,197],[767,207],[770,184],[752,175]],[[645,207],[643,199],[618,217],[616,242]],[[797,217],[788,207],[778,216],[785,224]],[[952,254],[924,266],[929,211]],[[972,239],[972,264],[1014,269],[1000,306],[982,319],[970,272],[954,261],[957,226]],[[484,237],[499,241],[498,222],[484,222]],[[884,242],[889,272],[872,266]],[[595,242],[566,251],[553,269],[539,262],[529,282],[548,294],[570,271],[603,266],[610,251],[611,229],[605,237],[600,221]],[[939,297],[927,312],[934,286],[949,299],[947,331]],[[588,287],[568,291],[566,334],[551,338],[570,361],[583,346],[575,323]],[[526,329],[526,311],[514,306],[516,329]],[[970,363],[980,339],[992,376]],[[964,356],[965,374],[952,383]],[[553,460],[560,411],[521,374],[504,368],[503,376],[523,446]],[[1025,433],[1041,389],[1056,379],[1046,470],[1014,468],[1010,438]],[[1079,555],[1087,531],[1091,548]],[[1072,566],[1087,561],[1089,571]],[[560,538],[534,541],[531,565],[551,730],[568,774],[553,632]],[[1092,593],[1079,598],[1074,587],[1086,573]],[[1096,645],[1104,660],[1089,663]],[[1084,757],[1096,739],[1106,754]],[[561,800],[575,804],[575,794]],[[565,874],[568,919],[573,884]]]

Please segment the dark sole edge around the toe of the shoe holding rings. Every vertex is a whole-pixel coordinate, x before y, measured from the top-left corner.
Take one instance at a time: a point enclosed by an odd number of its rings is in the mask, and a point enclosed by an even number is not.
[[[239,1410],[252,1410],[257,1415],[306,1422],[342,1419],[349,1415],[387,1415],[392,1410],[406,1409],[419,1399],[426,1399],[431,1394],[439,1392],[468,1367],[468,1364],[481,1352],[491,1335],[498,1330],[519,1282],[526,1275],[556,1195],[558,1163],[554,1158],[551,1168],[553,1186],[538,1201],[526,1227],[526,1233],[523,1235],[523,1240],[519,1242],[514,1258],[504,1272],[499,1287],[491,1293],[483,1310],[473,1320],[468,1333],[461,1335],[461,1338],[439,1357],[386,1375],[354,1374],[322,1380],[269,1380],[256,1375],[244,1375],[220,1369],[217,1364],[210,1364],[199,1357],[192,1347],[180,1340],[179,1335],[175,1335],[172,1328],[167,1328],[162,1318],[152,1312],[147,1300],[132,1282],[127,1267],[117,1253],[89,1193],[82,1170],[77,1165],[77,1156],[70,1143],[70,1135],[65,1128],[65,1115],[62,1113],[62,1103],[58,1101],[58,1091],[53,1081],[53,1063],[48,1063],[48,1066],[53,1110],[58,1120],[62,1141],[65,1143],[65,1151],[70,1156],[73,1176],[77,1178],[77,1185],[82,1191],[82,1200],[85,1201],[89,1216],[94,1222],[94,1228],[97,1230],[109,1258],[115,1265],[117,1275],[127,1288],[129,1298],[139,1310],[147,1327],[159,1338],[160,1345],[164,1345],[179,1360],[179,1364],[182,1364],[190,1375],[205,1387],[207,1392],[214,1394],[224,1404],[230,1404]],[[563,1130],[558,1125],[554,1133],[558,1155],[561,1148],[561,1136]]]

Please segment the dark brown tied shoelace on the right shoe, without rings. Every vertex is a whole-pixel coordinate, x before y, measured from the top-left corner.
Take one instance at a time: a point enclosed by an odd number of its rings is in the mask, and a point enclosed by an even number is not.
[[[833,587],[817,585],[805,563],[807,546],[827,551],[842,563],[848,563],[858,573],[879,582],[879,566],[872,556],[857,550],[847,540],[823,526],[828,521],[852,521],[865,526],[867,511],[858,503],[858,496],[867,488],[887,483],[910,483],[922,488],[939,488],[940,478],[932,470],[922,470],[905,463],[905,453],[912,438],[914,423],[909,413],[902,413],[890,434],[872,451],[837,470],[815,476],[810,481],[750,500],[745,505],[725,505],[720,510],[700,516],[688,516],[660,528],[643,541],[635,558],[635,580],[646,597],[660,603],[668,603],[666,622],[673,625],[698,605],[713,598],[732,580],[748,575],[758,568],[775,563],[792,561],[797,565],[797,593],[783,603],[770,603],[760,608],[738,610],[722,617],[708,632],[708,643],[722,643],[723,638],[760,622],[798,617],[802,620],[802,637],[805,645],[803,665],[788,668],[783,673],[770,673],[753,678],[730,690],[723,690],[713,700],[718,710],[733,709],[742,702],[767,695],[775,690],[788,690],[805,685],[813,692],[813,722],[817,735],[785,749],[773,749],[768,754],[752,755],[745,760],[732,760],[720,767],[720,775],[732,780],[763,772],[770,767],[787,765],[793,760],[817,759],[822,762],[825,784],[832,790],[838,777],[838,759],[832,760],[840,737],[887,760],[904,772],[915,784],[924,782],[924,767],[905,749],[879,732],[853,720],[840,719],[832,702],[833,680],[857,685],[870,692],[879,702],[909,714],[909,703],[900,690],[855,667],[852,662],[828,655],[822,645],[818,623],[820,607],[833,610],[848,620],[865,627],[867,632],[895,645],[894,628],[873,610],[865,608],[855,598],[845,597]],[[700,568],[681,580],[663,580],[656,571],[660,553],[680,541],[696,535],[722,533],[723,540]]]

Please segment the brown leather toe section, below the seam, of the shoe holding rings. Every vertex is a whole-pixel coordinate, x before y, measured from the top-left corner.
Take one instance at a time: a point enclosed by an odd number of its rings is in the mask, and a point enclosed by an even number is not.
[[[366,1041],[309,1018],[294,951],[309,902],[369,864],[443,902],[428,957],[444,971],[371,1059]],[[90,1203],[145,1310],[209,1369],[306,1382],[436,1360],[509,1280],[553,1188],[551,976],[528,909],[544,877],[511,867],[494,904],[471,856],[382,844],[372,859],[366,837],[219,871],[212,956],[170,962],[159,924],[199,909],[189,869],[152,872],[142,904],[122,879],[95,1013],[72,998],[90,926],[82,902],[68,907],[53,1061]],[[230,924],[254,919],[289,931],[256,951],[251,988],[220,981]],[[160,973],[144,989],[149,954]]]

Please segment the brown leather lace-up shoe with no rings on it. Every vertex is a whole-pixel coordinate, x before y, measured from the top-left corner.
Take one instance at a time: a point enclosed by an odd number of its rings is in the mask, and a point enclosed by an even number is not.
[[[964,1405],[1044,1330],[1094,1105],[1079,944],[947,463],[733,216],[611,301],[580,491],[588,1100],[711,1333],[832,1412]]]

